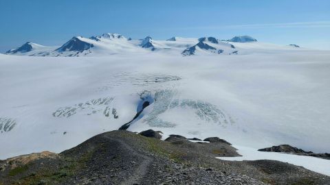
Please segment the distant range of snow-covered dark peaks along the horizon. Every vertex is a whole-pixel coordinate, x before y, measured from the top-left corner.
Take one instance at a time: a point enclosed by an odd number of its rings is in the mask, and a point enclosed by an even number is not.
[[[270,47],[269,47],[270,46]],[[291,45],[292,46],[292,45]],[[257,48],[257,49],[256,49]],[[154,40],[151,36],[144,39],[133,40],[121,34],[105,33],[100,36],[74,36],[61,47],[45,47],[27,42],[17,49],[6,52],[7,55],[20,56],[111,56],[115,54],[132,55],[134,53],[146,54],[150,52],[166,53],[177,56],[198,55],[231,55],[248,54],[251,52],[268,52],[287,50],[294,47],[281,45],[267,45],[256,42],[250,36],[235,36],[230,40],[219,40],[214,37],[183,38],[173,36],[167,40]]]

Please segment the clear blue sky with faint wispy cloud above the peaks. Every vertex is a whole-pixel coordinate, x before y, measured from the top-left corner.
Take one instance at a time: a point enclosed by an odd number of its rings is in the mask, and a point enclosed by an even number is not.
[[[105,32],[155,39],[250,35],[262,42],[330,49],[330,1],[0,0],[0,52],[26,41],[62,45],[72,36]]]

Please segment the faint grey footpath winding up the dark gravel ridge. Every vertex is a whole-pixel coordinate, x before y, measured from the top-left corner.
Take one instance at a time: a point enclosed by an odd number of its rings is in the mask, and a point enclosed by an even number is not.
[[[140,182],[140,180],[142,180],[144,175],[146,175],[146,173],[148,172],[148,167],[150,167],[150,165],[153,163],[154,158],[151,158],[150,156],[146,156],[143,153],[140,153],[139,151],[133,149],[131,146],[127,145],[126,143],[124,143],[124,141],[120,139],[111,138],[109,136],[104,136],[104,138],[108,138],[110,140],[114,140],[120,143],[120,145],[122,145],[122,148],[129,151],[131,155],[143,159],[142,162],[140,162],[137,169],[134,170],[133,174],[128,179],[124,180],[124,182],[122,182],[121,184],[137,184],[137,182]]]

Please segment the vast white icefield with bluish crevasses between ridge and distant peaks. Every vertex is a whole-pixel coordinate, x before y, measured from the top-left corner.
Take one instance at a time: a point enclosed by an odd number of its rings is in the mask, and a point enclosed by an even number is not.
[[[111,39],[100,38],[117,42]],[[81,40],[98,51],[109,47]],[[141,40],[118,42],[130,49]],[[0,158],[60,152],[117,130],[145,99],[153,102],[131,131],[329,152],[329,51],[259,42],[235,47],[243,54],[182,57],[140,47],[142,53],[88,58],[0,55]]]

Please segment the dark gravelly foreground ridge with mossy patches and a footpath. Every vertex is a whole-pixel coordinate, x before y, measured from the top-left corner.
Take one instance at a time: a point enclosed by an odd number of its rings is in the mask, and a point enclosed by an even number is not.
[[[159,132],[106,132],[62,153],[0,161],[0,184],[329,184],[330,177],[285,162],[230,162],[228,143],[193,143]],[[146,135],[146,136],[144,136]],[[151,136],[153,135],[153,136]],[[173,139],[175,138],[175,139]],[[213,142],[214,141],[214,142]],[[281,169],[281,170],[278,170]]]

